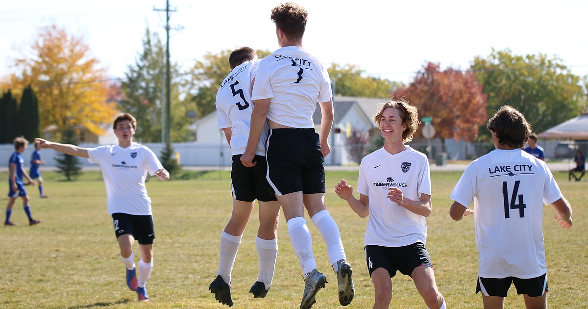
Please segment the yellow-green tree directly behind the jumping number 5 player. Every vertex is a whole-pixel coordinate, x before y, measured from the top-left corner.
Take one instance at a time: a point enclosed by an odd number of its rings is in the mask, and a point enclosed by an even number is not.
[[[216,110],[215,98],[219,85],[230,73],[229,55],[231,50],[220,54],[208,53],[202,61],[196,61],[183,81],[186,103],[196,112],[196,118],[202,118]],[[256,51],[259,58],[271,54],[269,51]]]

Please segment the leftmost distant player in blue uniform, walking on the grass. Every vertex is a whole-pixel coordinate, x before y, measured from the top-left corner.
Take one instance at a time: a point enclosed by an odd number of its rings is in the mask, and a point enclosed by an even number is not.
[[[29,224],[35,225],[41,223],[41,220],[34,220],[31,216],[31,207],[29,207],[29,197],[26,195],[25,184],[22,182],[22,176],[25,175],[29,181],[27,184],[35,185],[35,181],[26,174],[24,168],[22,168],[22,152],[25,151],[26,146],[29,142],[24,137],[17,137],[14,139],[14,149],[16,150],[11,156],[8,162],[8,205],[6,206],[6,220],[4,225],[18,225],[15,222],[10,221],[12,215],[12,206],[17,197],[22,197],[22,205],[25,208],[26,216],[29,217]]]

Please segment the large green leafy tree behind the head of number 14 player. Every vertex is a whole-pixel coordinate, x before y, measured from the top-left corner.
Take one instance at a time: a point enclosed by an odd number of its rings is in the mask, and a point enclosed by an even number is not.
[[[502,105],[510,105],[523,112],[534,132],[545,131],[586,109],[580,77],[560,58],[493,49],[487,58],[476,57],[471,69],[488,95],[486,111],[493,114]]]

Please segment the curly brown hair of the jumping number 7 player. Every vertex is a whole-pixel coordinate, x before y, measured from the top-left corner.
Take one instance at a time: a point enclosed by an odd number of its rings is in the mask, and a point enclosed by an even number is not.
[[[301,5],[286,2],[272,9],[272,21],[284,32],[288,39],[302,39],[306,30],[308,12]]]

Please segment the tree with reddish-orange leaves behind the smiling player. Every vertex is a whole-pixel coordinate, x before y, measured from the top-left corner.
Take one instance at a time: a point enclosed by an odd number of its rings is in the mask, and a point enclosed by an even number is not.
[[[419,108],[420,117],[432,117],[435,137],[445,151],[445,139],[474,141],[480,124],[486,121],[486,95],[472,72],[447,68],[428,62],[417,72],[407,88],[398,89],[394,97],[406,98]]]

